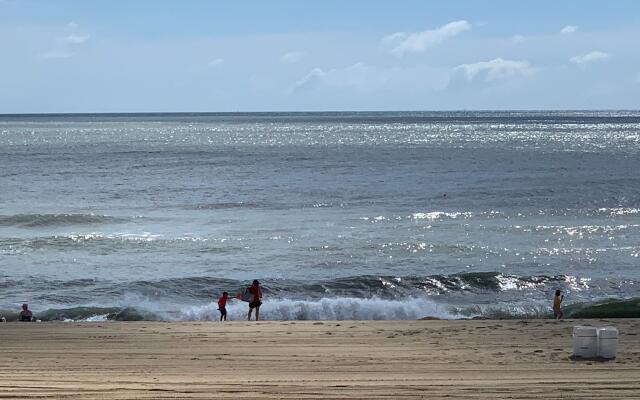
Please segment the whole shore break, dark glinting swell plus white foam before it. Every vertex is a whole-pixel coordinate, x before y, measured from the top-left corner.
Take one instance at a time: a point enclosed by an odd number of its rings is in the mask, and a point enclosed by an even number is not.
[[[634,281],[499,272],[261,281],[265,293],[261,314],[266,320],[548,318],[549,299],[558,288],[568,294],[567,317],[640,317],[640,299],[628,300],[633,294],[625,299],[625,293],[633,293],[627,289],[637,285]],[[30,298],[36,316],[43,321],[215,320],[216,296],[222,291],[240,293],[246,285],[245,281],[214,277],[132,282],[99,279],[0,282],[0,288],[11,287],[16,296]],[[606,297],[612,285],[617,287],[618,298]],[[44,290],[46,296],[27,295]],[[9,307],[5,303],[0,315],[15,319],[15,310],[21,302],[16,299]],[[228,311],[231,319],[242,320],[247,307],[234,300],[229,302]]]

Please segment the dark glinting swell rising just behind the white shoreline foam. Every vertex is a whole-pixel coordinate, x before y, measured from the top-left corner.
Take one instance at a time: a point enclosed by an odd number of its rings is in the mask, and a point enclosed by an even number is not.
[[[261,279],[269,298],[294,300],[319,300],[322,298],[379,298],[397,300],[430,296],[484,296],[512,295],[516,300],[522,291],[530,296],[545,298],[556,289],[574,293],[589,294],[590,291],[617,287],[622,293],[624,287],[634,287],[635,281],[592,281],[586,277],[571,275],[557,276],[515,276],[498,272],[474,272],[454,275],[430,275],[424,277],[406,276],[354,276],[319,281],[295,279]],[[139,295],[155,301],[170,298],[175,301],[202,302],[216,293],[228,291],[239,293],[247,281],[195,276],[160,280],[139,280],[116,282],[105,279],[60,280],[4,280],[0,288],[11,287],[14,292],[33,293],[47,291],[42,300],[64,303],[70,297],[75,301],[90,302],[96,296],[109,304],[110,299],[126,295]],[[32,296],[29,296],[33,298]],[[37,300],[37,298],[36,298]]]

